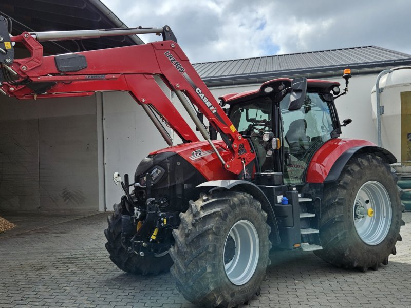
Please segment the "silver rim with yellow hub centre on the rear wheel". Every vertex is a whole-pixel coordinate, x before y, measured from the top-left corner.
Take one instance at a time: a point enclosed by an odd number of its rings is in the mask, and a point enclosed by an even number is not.
[[[381,243],[388,234],[392,216],[393,208],[385,187],[377,181],[362,185],[353,204],[354,226],[361,240],[371,246]]]

